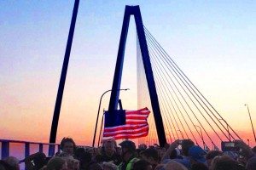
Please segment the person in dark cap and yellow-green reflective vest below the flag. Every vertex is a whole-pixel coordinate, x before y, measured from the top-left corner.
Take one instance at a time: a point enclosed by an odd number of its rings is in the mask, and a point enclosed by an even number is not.
[[[121,156],[123,161],[119,164],[119,170],[132,170],[136,161],[139,161],[135,156],[136,146],[131,140],[125,140],[119,144],[122,148]]]

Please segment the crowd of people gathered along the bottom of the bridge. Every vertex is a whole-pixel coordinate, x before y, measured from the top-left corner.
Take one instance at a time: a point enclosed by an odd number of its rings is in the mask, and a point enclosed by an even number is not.
[[[27,170],[256,170],[256,147],[235,140],[237,151],[203,150],[190,139],[176,140],[166,147],[120,144],[109,139],[101,148],[77,147],[73,139],[61,140],[61,152],[53,157],[36,153],[25,159]],[[20,161],[9,156],[0,170],[20,170]]]

